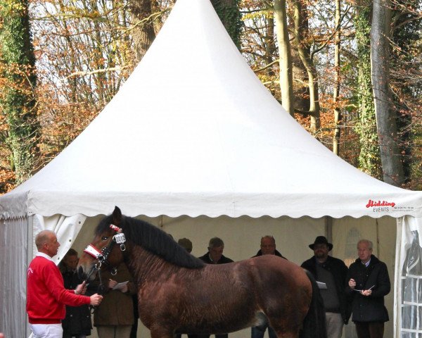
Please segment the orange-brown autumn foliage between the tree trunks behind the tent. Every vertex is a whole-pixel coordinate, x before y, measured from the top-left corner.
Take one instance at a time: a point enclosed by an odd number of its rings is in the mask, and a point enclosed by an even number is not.
[[[265,1],[241,1],[239,6],[243,27],[240,49],[257,77],[281,101],[279,56],[270,4]],[[0,88],[13,87],[21,92],[30,90],[27,94],[36,99],[39,153],[35,171],[49,163],[91,123],[132,73],[136,65],[132,32],[142,23],[136,21],[130,13],[130,5],[130,0],[33,0],[30,3],[37,87],[28,89],[23,82],[11,82],[10,78],[4,76],[7,72],[28,77],[34,69],[17,63],[6,64],[0,56]],[[146,20],[153,20],[156,32],[160,30],[172,5],[173,1],[165,0],[153,3],[153,15]],[[328,149],[332,149],[336,127],[333,110],[340,109],[339,156],[359,166],[361,144],[357,133],[357,104],[359,94],[362,93],[357,82],[353,6],[353,2],[345,1],[341,27],[334,27],[333,1],[307,2],[307,20],[312,29],[309,29],[305,41],[318,75],[321,109],[321,127],[318,130],[310,129],[307,78],[295,49],[292,51],[295,68],[293,86],[296,120]],[[400,10],[398,2],[396,7]],[[291,2],[288,2],[290,32],[293,31],[292,8]],[[403,21],[402,25],[410,25],[411,22]],[[407,168],[407,183],[404,187],[408,189],[422,189],[422,87],[421,63],[417,63],[420,58],[418,46],[421,33],[417,32],[418,27],[411,27],[412,35],[407,37],[406,46],[400,45],[399,37],[391,42],[394,67],[391,70],[390,87],[395,98],[392,106],[397,109],[400,121],[397,143],[402,149],[402,158]],[[342,49],[340,96],[334,101],[333,44],[337,29],[341,31]],[[0,96],[2,92],[0,90]],[[9,127],[0,106],[0,193],[8,192],[15,186],[16,177],[10,161],[11,149],[6,142]]]

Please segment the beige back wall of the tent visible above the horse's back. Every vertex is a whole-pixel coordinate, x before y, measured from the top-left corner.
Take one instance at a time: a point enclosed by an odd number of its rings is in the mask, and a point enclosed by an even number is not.
[[[314,242],[317,235],[325,232],[324,218],[250,218],[242,216],[229,218],[209,218],[200,216],[189,218],[167,218],[162,220],[162,230],[172,234],[174,239],[188,237],[193,242],[193,255],[203,256],[207,252],[208,242],[212,237],[224,241],[224,256],[234,261],[241,261],[255,256],[260,249],[261,237],[271,235],[276,240],[276,249],[289,261],[302,263],[312,251],[308,244]],[[300,234],[298,234],[300,228]],[[295,245],[292,246],[292,241]]]

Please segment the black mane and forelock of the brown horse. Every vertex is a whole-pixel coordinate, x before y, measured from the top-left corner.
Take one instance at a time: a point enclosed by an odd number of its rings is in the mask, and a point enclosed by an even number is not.
[[[96,234],[101,234],[108,230],[112,223],[112,215],[103,218],[96,227]],[[191,253],[188,253],[186,249],[177,244],[169,234],[144,220],[137,220],[136,218],[122,215],[122,222],[119,227],[122,228],[124,236],[129,241],[155,253],[169,263],[184,268],[202,268],[205,265],[203,261],[192,256]]]

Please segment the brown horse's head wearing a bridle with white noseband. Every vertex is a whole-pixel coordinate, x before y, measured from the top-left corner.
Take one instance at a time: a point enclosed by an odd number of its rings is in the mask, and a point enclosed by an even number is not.
[[[77,266],[82,280],[94,280],[98,270],[113,269],[123,261],[126,239],[121,224],[122,212],[117,206],[111,215],[98,223],[95,237],[82,253]]]

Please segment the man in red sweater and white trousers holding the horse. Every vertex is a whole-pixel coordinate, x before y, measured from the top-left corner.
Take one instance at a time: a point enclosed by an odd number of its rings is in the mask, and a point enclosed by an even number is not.
[[[93,294],[83,296],[87,287],[85,282],[75,290],[64,287],[63,277],[56,263],[60,243],[56,234],[50,230],[41,231],[35,237],[38,253],[27,270],[27,313],[34,338],[61,338],[61,320],[65,318],[66,305],[98,306],[103,296]]]

